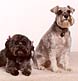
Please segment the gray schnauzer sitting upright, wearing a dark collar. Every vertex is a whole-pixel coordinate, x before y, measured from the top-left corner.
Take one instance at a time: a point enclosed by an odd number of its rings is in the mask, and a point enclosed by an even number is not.
[[[35,50],[34,65],[38,69],[50,69],[60,72],[59,67],[70,71],[69,54],[71,37],[68,27],[74,24],[71,16],[75,9],[70,6],[56,6],[51,12],[56,14],[55,22],[46,32]]]

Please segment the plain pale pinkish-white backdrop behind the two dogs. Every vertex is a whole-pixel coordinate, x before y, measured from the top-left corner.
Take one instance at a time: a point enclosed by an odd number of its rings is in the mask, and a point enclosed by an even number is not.
[[[54,22],[55,14],[50,9],[57,5],[75,8],[75,23],[70,27],[71,51],[78,51],[77,0],[0,0],[0,49],[5,47],[8,36],[14,34],[26,35],[36,47]]]

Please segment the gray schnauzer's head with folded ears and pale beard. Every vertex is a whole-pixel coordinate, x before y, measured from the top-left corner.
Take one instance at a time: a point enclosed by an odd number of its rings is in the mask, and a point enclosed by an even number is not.
[[[56,14],[56,23],[61,28],[68,28],[73,25],[74,19],[71,16],[75,9],[70,6],[67,7],[59,7],[56,6],[51,9],[51,12]]]

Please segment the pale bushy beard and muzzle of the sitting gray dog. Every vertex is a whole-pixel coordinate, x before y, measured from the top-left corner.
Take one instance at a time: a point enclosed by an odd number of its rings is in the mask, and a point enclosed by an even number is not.
[[[73,25],[74,19],[71,16],[69,16],[67,19],[59,16],[56,18],[56,22],[61,28],[68,28]]]

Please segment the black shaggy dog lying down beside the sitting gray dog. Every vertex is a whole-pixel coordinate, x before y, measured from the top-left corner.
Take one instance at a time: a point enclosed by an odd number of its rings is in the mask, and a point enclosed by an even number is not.
[[[9,37],[5,49],[0,52],[0,66],[6,65],[6,71],[12,75],[18,75],[18,70],[21,70],[22,74],[29,76],[33,51],[34,46],[27,37],[20,34]]]

